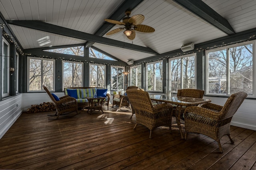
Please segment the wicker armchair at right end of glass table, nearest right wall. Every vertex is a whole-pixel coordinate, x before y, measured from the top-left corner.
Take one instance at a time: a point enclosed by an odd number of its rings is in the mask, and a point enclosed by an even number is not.
[[[230,142],[230,122],[238,107],[242,104],[247,94],[237,92],[232,94],[224,106],[212,103],[203,104],[201,107],[190,106],[185,109],[185,139],[188,132],[201,133],[218,142],[220,152],[223,152],[220,139],[228,135]]]

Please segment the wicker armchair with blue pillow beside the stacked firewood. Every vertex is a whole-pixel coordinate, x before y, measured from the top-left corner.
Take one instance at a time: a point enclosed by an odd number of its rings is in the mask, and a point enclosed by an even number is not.
[[[69,97],[69,96],[63,96],[60,97],[59,101],[56,101],[52,94],[49,92],[49,90],[46,88],[46,86],[43,86],[44,90],[46,93],[49,95],[50,99],[52,100],[52,103],[56,107],[56,119],[59,118],[60,115],[64,113],[70,113],[73,111],[76,111],[76,114],[78,114],[78,109],[77,109],[77,102],[75,98]]]

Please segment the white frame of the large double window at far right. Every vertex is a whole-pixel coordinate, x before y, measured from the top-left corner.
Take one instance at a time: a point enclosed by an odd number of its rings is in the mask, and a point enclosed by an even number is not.
[[[249,44],[252,44],[252,95],[248,94],[247,97],[249,98],[255,98],[255,92],[256,92],[256,84],[255,84],[255,81],[256,81],[256,59],[255,59],[255,53],[256,53],[256,41],[246,41],[246,42],[242,42],[242,43],[236,43],[236,44],[233,44],[233,45],[226,45],[225,47],[221,47],[221,48],[214,48],[214,49],[209,49],[209,50],[206,50],[205,51],[205,95],[208,95],[208,96],[230,96],[231,94],[228,94],[229,91],[230,91],[230,51],[229,49],[231,48],[234,48],[234,47],[240,47],[240,46],[243,46],[243,45],[249,45]],[[212,93],[208,93],[209,91],[209,86],[208,86],[208,81],[209,81],[209,68],[208,68],[208,53],[211,53],[211,52],[214,52],[214,51],[221,51],[221,50],[226,50],[226,94],[212,94]]]

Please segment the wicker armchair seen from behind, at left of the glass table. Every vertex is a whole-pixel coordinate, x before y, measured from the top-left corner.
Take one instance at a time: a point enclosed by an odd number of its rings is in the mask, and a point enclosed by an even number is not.
[[[172,105],[168,103],[152,105],[148,92],[131,89],[126,91],[127,96],[136,112],[136,124],[142,124],[150,130],[149,138],[152,138],[152,130],[162,125],[168,125],[171,132]]]

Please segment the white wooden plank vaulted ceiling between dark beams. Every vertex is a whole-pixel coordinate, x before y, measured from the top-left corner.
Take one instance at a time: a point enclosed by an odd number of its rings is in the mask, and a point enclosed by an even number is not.
[[[40,20],[46,23],[94,34],[105,18],[118,9],[124,0],[0,0],[0,12],[5,20]],[[236,33],[256,28],[256,0],[203,0],[210,8],[224,17]],[[202,43],[227,34],[210,25],[172,0],[144,0],[132,10],[130,16],[142,14],[144,25],[155,28],[154,33],[136,31],[129,40],[124,33],[104,35],[110,39],[150,47],[159,54],[180,49],[182,44]],[[65,37],[10,25],[23,49],[38,48],[38,39],[49,36],[51,43],[43,46],[59,46],[86,43],[81,39]],[[120,26],[114,26],[112,29]],[[111,29],[111,30],[112,30]],[[152,54],[94,43],[94,46],[127,62]]]

